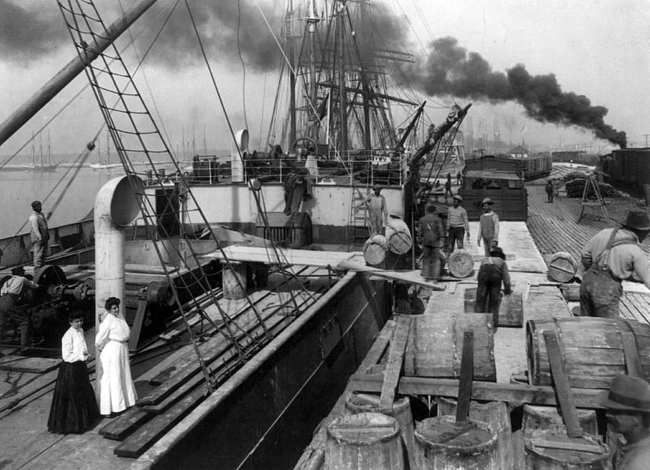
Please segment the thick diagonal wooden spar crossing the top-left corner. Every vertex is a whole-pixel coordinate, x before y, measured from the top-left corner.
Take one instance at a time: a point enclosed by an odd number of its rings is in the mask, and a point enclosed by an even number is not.
[[[63,69],[54,75],[44,86],[36,91],[19,109],[16,109],[9,118],[0,124],[0,145],[4,144],[9,137],[14,135],[34,114],[36,114],[43,106],[49,103],[59,91],[64,89],[77,75],[84,71],[86,64],[94,61],[99,54],[101,54],[111,42],[115,41],[120,34],[124,33],[131,24],[134,24],[136,19],[144,14],[151,5],[156,3],[156,0],[142,0],[139,4],[126,11],[119,19],[114,21],[108,29],[106,29],[106,37],[103,37],[93,44],[86,47],[85,61],[81,61],[78,55],[64,66]]]

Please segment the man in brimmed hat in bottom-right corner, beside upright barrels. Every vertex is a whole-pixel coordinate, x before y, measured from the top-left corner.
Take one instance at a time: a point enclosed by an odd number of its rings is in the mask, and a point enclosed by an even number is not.
[[[614,470],[650,468],[650,384],[641,377],[617,376],[596,401],[607,409],[611,431],[626,441],[614,452]]]

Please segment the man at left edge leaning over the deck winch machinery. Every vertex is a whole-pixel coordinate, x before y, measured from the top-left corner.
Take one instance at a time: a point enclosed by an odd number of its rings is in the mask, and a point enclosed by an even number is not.
[[[31,329],[29,299],[33,289],[39,289],[39,284],[25,277],[23,266],[11,269],[11,277],[0,289],[0,339],[2,338],[2,326],[9,318],[19,327],[21,349],[27,346],[27,338]]]

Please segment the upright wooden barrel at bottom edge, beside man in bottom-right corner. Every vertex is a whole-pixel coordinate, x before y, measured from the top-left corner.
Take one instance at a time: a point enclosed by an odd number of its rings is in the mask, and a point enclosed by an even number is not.
[[[595,436],[569,437],[555,431],[534,431],[524,441],[526,469],[609,470],[609,449]]]

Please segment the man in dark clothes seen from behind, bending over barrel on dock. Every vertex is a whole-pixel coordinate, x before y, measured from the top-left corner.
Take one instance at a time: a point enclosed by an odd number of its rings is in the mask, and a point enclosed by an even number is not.
[[[501,283],[504,285],[504,294],[512,293],[506,255],[499,246],[490,251],[490,256],[481,259],[478,280],[479,286],[476,289],[474,311],[493,314],[493,325],[496,326],[501,303]]]

